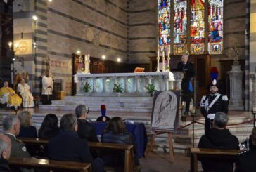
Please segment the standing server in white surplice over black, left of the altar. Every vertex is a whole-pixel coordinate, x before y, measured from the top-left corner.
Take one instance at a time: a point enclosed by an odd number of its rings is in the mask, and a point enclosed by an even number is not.
[[[42,79],[42,86],[43,105],[50,105],[51,96],[53,95],[53,79],[49,76],[49,71],[46,71],[46,75]]]

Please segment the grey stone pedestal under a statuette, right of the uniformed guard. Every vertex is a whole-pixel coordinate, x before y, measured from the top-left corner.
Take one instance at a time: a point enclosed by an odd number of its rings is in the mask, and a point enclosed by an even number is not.
[[[227,73],[230,79],[229,110],[243,110],[243,71],[240,65],[233,65],[232,70]]]

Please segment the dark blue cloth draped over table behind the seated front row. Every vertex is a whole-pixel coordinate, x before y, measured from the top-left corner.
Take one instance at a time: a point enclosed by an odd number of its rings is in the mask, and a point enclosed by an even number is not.
[[[107,122],[91,122],[90,123],[94,128],[96,128],[96,134],[102,135],[105,127],[108,125]],[[146,128],[143,123],[139,124],[129,124],[125,123],[127,132],[134,135],[134,140],[137,147],[137,155],[139,158],[144,157],[144,152],[148,143],[148,137],[146,134]]]

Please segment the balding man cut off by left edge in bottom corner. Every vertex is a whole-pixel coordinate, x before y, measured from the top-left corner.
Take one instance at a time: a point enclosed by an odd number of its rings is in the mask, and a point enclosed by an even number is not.
[[[0,134],[0,171],[11,171],[8,165],[8,159],[11,154],[11,140],[4,134]]]

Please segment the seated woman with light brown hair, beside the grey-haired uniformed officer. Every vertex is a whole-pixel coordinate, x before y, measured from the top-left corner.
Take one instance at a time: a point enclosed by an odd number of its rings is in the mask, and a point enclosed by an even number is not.
[[[37,128],[32,126],[32,115],[28,111],[23,111],[18,114],[20,119],[20,133],[17,138],[37,138]],[[31,156],[37,154],[37,146],[27,145],[27,151]]]

